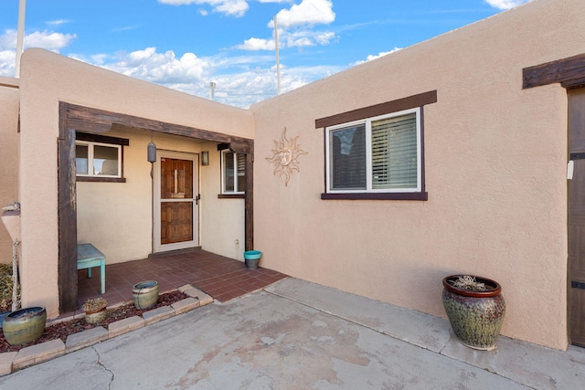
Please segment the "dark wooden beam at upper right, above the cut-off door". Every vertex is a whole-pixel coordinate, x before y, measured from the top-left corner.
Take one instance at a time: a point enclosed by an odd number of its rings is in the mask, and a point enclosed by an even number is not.
[[[522,69],[522,89],[585,78],[585,54]]]

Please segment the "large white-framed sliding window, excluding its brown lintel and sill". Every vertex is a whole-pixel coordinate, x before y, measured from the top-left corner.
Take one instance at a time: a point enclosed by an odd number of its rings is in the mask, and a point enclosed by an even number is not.
[[[422,191],[420,108],[325,129],[326,193]]]

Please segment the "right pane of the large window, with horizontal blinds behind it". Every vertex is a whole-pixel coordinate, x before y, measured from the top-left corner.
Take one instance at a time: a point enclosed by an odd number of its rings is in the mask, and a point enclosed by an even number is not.
[[[372,122],[372,188],[416,188],[416,114]]]

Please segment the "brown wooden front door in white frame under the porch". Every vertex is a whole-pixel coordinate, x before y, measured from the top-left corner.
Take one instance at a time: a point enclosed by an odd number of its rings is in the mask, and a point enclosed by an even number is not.
[[[158,151],[155,163],[154,250],[198,245],[196,154]]]

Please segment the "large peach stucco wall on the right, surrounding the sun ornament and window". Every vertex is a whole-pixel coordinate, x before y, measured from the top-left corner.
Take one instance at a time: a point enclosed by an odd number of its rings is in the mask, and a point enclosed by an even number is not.
[[[505,335],[566,348],[566,91],[522,90],[522,69],[583,53],[583,15],[536,0],[252,106],[261,265],[441,317],[443,277],[496,279]],[[315,119],[429,90],[429,200],[321,200]],[[308,152],[288,186],[264,160],[284,127]]]

